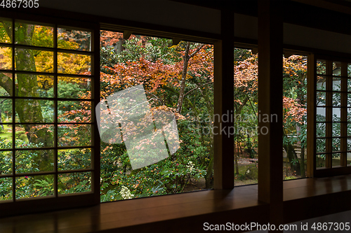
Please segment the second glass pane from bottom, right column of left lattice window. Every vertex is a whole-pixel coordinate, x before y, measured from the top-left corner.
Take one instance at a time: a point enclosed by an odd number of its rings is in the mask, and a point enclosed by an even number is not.
[[[78,148],[58,150],[58,170],[91,168],[91,149]]]

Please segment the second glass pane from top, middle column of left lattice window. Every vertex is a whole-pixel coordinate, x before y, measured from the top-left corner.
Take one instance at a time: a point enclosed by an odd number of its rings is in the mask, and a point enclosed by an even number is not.
[[[16,48],[15,69],[53,73],[53,52]]]

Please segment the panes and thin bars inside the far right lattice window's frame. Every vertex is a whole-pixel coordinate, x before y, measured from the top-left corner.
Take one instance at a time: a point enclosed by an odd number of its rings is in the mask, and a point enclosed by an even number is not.
[[[347,104],[350,101],[350,87],[347,86],[347,83],[350,84],[350,76],[348,76],[350,72],[347,73],[347,62],[317,59],[316,70],[317,114],[314,118],[317,129],[314,140],[317,146],[315,153],[317,161],[315,166],[317,170],[350,166],[347,164],[347,153],[351,153],[347,146],[347,141],[351,140],[350,135],[347,134],[347,125],[350,126],[351,123],[351,119],[347,118],[347,113],[351,110],[351,106]],[[333,157],[340,157],[340,164],[333,166]],[[324,159],[322,166],[320,166],[321,158]]]

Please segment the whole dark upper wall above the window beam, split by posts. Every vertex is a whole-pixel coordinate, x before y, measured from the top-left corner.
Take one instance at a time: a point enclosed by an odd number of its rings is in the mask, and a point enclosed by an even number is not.
[[[220,10],[168,0],[41,0],[40,6],[220,34]],[[332,19],[331,19],[332,20]],[[257,17],[234,15],[234,34],[257,39]],[[350,27],[345,22],[345,27]],[[284,23],[284,43],[351,53],[351,35]]]

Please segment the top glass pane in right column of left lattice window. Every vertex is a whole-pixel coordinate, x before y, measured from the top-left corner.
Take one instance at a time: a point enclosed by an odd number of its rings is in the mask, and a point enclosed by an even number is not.
[[[91,50],[91,32],[58,28],[58,48]]]

